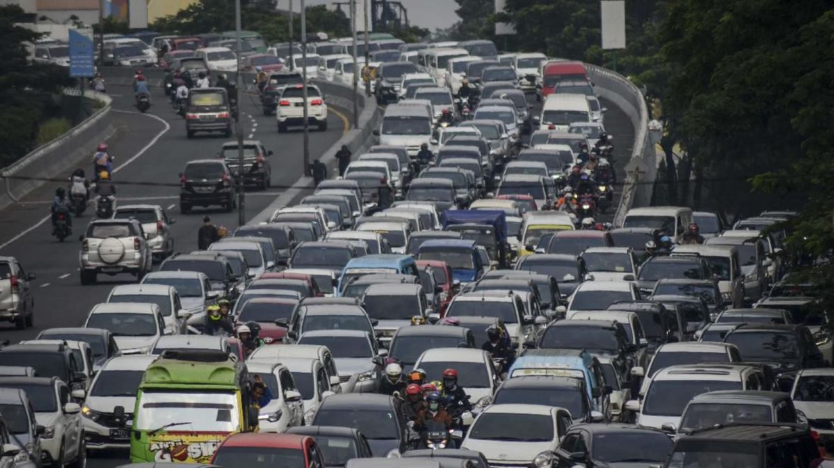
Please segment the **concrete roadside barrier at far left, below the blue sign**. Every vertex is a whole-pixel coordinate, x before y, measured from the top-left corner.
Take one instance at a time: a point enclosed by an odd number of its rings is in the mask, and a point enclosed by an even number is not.
[[[69,96],[80,95],[78,89],[64,91]],[[85,97],[103,102],[103,106],[73,127],[69,132],[35,148],[26,156],[0,171],[4,188],[0,194],[0,209],[17,203],[49,179],[64,177],[84,155],[92,155],[98,142],[107,140],[115,132],[110,113],[111,97],[100,92],[86,91]]]

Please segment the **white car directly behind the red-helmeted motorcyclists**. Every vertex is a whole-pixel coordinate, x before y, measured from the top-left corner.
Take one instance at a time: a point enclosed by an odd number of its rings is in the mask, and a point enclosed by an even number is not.
[[[475,404],[485,396],[492,396],[500,385],[492,358],[488,351],[472,348],[434,348],[423,351],[414,363],[414,369],[423,369],[429,381],[442,381],[443,371],[458,371],[458,386]]]

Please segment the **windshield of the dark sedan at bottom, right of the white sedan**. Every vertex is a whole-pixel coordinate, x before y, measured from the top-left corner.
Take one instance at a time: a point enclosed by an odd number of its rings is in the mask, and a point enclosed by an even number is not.
[[[571,413],[573,414],[573,413]],[[610,431],[594,435],[594,460],[607,463],[663,463],[675,442],[662,432]]]

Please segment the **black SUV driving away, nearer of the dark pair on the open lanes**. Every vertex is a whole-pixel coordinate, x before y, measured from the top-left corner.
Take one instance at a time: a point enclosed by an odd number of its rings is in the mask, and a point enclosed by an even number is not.
[[[194,205],[220,205],[226,212],[232,212],[238,206],[236,185],[224,161],[190,161],[179,174],[179,211],[188,214]]]

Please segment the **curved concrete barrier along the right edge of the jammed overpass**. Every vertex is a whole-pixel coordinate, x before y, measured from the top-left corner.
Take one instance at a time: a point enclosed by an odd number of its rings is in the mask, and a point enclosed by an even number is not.
[[[631,207],[651,202],[657,177],[655,147],[649,138],[649,110],[643,93],[619,73],[587,63],[585,68],[591,81],[595,82],[597,94],[620,107],[634,127],[634,145],[629,162],[625,165],[625,182],[613,222],[615,227],[622,227],[625,213]]]

